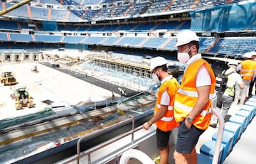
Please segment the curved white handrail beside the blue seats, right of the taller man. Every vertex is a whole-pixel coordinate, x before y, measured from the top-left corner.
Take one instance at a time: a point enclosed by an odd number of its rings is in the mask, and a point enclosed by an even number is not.
[[[220,115],[220,113],[215,110],[213,110],[213,114],[215,114],[215,116],[217,116],[218,118],[218,123],[220,124],[219,128],[218,128],[218,136],[217,136],[217,140],[216,140],[216,144],[215,144],[215,151],[213,154],[213,161],[212,164],[217,164],[218,163],[218,158],[220,155],[220,147],[221,147],[221,142],[222,142],[222,138],[223,138],[223,131],[224,131],[224,119],[223,116]]]

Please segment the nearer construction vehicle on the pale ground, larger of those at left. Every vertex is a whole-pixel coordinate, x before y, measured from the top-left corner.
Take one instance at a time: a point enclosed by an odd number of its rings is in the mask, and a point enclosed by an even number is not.
[[[33,103],[33,98],[30,96],[26,90],[26,86],[17,87],[11,94],[11,99],[14,99],[16,110],[23,109],[23,107],[33,108],[35,104]]]

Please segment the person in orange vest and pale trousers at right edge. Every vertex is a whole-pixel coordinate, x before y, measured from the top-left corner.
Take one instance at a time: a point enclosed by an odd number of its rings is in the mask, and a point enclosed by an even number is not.
[[[247,97],[248,87],[250,82],[253,80],[253,76],[255,74],[256,69],[256,62],[252,60],[252,54],[250,52],[245,53],[244,55],[245,60],[240,62],[237,67],[237,71],[242,74],[242,82],[245,84],[244,89],[240,89],[238,87],[236,91],[235,102],[238,103],[239,96],[240,98],[240,105],[245,104],[245,98]]]

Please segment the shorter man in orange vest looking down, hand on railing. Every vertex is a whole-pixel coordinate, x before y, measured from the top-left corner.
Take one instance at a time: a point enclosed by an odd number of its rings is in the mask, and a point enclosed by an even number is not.
[[[169,158],[169,136],[171,130],[178,126],[174,119],[174,95],[180,84],[167,72],[167,61],[162,57],[151,60],[150,71],[155,81],[161,81],[157,93],[154,116],[143,124],[143,129],[148,130],[152,124],[156,124],[156,141],[159,148],[160,163],[168,163]]]

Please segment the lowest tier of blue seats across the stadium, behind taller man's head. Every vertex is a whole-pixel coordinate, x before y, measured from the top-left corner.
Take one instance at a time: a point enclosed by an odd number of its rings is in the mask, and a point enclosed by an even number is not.
[[[20,34],[20,33],[0,33],[2,42],[24,42],[24,43],[69,43],[85,45],[105,45],[122,46],[129,48],[149,48],[156,50],[177,50],[174,46],[176,36],[170,38],[152,38],[152,37],[117,37],[117,36],[82,36],[82,35],[43,35],[43,34]],[[213,55],[222,55],[224,58],[240,58],[248,51],[256,50],[256,38],[248,37],[230,37],[213,38],[200,37],[201,53],[210,53]],[[4,47],[2,48],[10,48]],[[15,45],[14,45],[15,47]]]

